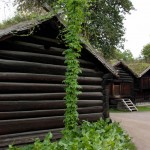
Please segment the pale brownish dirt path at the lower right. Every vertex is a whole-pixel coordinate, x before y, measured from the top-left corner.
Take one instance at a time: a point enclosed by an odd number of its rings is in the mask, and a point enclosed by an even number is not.
[[[110,113],[110,117],[120,122],[138,150],[150,150],[150,112]]]

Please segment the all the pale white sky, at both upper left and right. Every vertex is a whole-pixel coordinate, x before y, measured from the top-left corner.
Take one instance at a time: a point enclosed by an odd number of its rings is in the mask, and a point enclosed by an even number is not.
[[[14,15],[12,2],[14,0],[0,0],[0,21]],[[124,49],[129,49],[137,58],[143,46],[150,43],[150,0],[131,0],[136,10],[126,15],[124,21],[125,43]]]

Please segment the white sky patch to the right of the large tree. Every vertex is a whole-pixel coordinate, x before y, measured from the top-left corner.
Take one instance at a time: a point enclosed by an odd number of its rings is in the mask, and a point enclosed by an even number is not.
[[[135,11],[125,20],[125,49],[138,57],[144,45],[150,43],[150,0],[131,0]]]

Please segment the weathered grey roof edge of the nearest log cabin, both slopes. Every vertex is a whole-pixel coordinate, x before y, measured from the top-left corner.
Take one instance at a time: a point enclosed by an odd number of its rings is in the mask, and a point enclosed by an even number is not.
[[[53,16],[57,17],[57,16]],[[60,20],[59,17],[57,17],[58,21],[62,24],[62,21]],[[30,21],[25,21],[25,22],[20,22],[16,25],[10,26],[6,29],[0,30],[0,41],[3,41],[5,39],[8,39],[10,37],[15,36],[16,34],[19,34],[22,31],[26,30],[31,30],[35,26],[38,26],[42,24],[43,22],[48,21],[49,19],[46,20],[30,20]],[[90,43],[86,42],[84,38],[80,38],[81,42],[83,43],[83,46],[87,51],[89,51],[100,63],[102,63],[105,68],[111,72],[114,76],[118,76],[117,71],[114,69],[113,66],[111,66],[106,60],[100,55],[100,53],[94,49]]]

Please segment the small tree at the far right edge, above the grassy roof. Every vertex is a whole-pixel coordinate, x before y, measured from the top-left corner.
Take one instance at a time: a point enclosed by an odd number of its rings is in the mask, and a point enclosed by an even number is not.
[[[150,62],[150,43],[143,47],[141,53],[142,53],[145,61]]]

